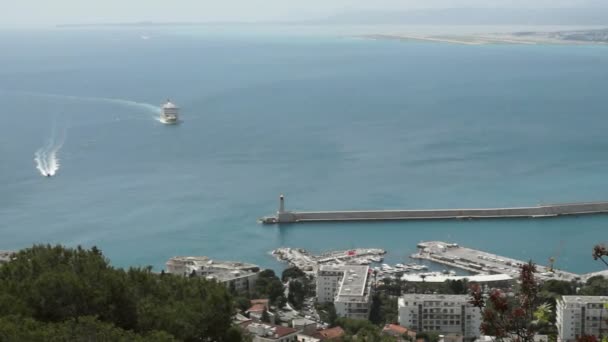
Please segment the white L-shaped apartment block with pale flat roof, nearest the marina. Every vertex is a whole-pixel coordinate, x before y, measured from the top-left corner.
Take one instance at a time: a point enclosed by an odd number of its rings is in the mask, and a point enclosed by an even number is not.
[[[333,302],[339,317],[368,319],[371,285],[369,266],[322,265],[317,272],[317,301]]]

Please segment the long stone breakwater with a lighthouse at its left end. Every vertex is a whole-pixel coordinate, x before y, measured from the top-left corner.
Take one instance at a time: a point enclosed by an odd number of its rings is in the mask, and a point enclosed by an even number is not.
[[[549,218],[608,213],[608,202],[543,204],[534,207],[425,210],[287,211],[279,197],[275,216],[260,219],[264,224],[342,221],[399,221],[449,219]]]

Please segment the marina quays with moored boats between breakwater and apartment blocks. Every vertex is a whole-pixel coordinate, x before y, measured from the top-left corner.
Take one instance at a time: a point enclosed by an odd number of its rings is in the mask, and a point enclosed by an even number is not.
[[[519,278],[521,261],[472,248],[462,247],[456,243],[443,241],[420,242],[418,252],[409,256],[409,263],[389,265],[382,263],[386,251],[377,248],[357,248],[343,251],[331,251],[312,255],[302,248],[278,248],[271,254],[281,262],[298,267],[302,271],[315,275],[322,265],[369,265],[379,278],[402,279],[407,282],[444,282],[463,280],[479,283],[511,284]],[[429,270],[429,266],[415,261],[431,262],[445,266],[442,271]],[[412,262],[414,261],[414,262]],[[577,274],[554,267],[554,257],[549,259],[549,266],[536,261],[536,277],[541,281],[550,279],[585,282],[593,276],[608,276],[608,271]],[[458,274],[456,270],[459,270]]]

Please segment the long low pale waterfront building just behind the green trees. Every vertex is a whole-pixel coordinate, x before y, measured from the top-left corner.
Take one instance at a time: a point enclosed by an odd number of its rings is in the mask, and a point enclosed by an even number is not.
[[[237,292],[252,289],[260,272],[260,267],[254,264],[218,261],[205,256],[173,257],[167,261],[166,267],[168,273],[215,280]]]

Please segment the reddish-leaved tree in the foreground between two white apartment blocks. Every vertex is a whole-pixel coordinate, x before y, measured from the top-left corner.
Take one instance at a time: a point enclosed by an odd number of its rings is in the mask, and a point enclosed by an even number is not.
[[[519,293],[512,297],[500,290],[486,295],[478,284],[471,286],[470,303],[481,310],[482,333],[495,336],[497,341],[534,341],[534,335],[548,323],[551,310],[539,299],[534,272],[536,266],[532,262],[521,267]]]

